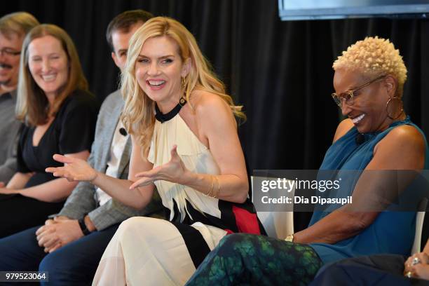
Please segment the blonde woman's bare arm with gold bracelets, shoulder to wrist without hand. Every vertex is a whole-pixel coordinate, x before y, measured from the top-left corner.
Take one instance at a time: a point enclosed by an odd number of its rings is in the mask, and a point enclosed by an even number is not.
[[[221,186],[218,198],[244,203],[249,193],[249,184],[236,120],[231,108],[219,96],[200,93],[203,94],[200,95],[196,107],[197,121],[203,127],[200,131],[207,137],[210,152],[222,174],[217,175],[217,182]],[[193,172],[188,172],[184,179],[184,184],[203,193],[207,192],[207,186],[210,187],[212,182],[210,175]]]

